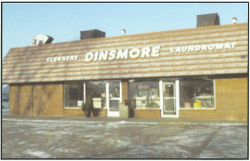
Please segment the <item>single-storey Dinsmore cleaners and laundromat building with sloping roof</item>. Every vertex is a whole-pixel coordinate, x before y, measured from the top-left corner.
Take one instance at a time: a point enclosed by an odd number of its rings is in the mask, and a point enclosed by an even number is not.
[[[90,30],[81,39],[9,50],[2,80],[10,114],[84,116],[91,96],[98,117],[119,117],[127,104],[130,117],[248,117],[248,23],[199,15],[196,28],[116,37]]]

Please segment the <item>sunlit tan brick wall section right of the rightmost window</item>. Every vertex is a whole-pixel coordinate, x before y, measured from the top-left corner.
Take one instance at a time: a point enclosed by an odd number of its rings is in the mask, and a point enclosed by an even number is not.
[[[216,80],[216,109],[221,119],[246,120],[248,79]]]

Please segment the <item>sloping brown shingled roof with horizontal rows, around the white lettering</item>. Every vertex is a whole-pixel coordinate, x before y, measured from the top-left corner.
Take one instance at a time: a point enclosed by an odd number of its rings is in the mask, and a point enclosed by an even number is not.
[[[232,42],[237,42],[233,49],[170,52],[177,47]],[[84,61],[90,51],[153,46],[161,47],[158,57]],[[65,56],[78,59],[47,62]],[[11,48],[2,67],[5,84],[247,73],[248,23]]]

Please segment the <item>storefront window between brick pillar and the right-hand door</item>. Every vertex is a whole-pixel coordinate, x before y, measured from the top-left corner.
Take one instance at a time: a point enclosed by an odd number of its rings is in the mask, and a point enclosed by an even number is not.
[[[134,108],[160,108],[159,81],[129,82],[129,97]]]

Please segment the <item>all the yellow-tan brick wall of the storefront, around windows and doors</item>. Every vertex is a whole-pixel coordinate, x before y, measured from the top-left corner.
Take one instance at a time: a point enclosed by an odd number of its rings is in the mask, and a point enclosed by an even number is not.
[[[127,88],[127,83],[123,83]],[[123,93],[125,95],[125,93]],[[248,78],[215,80],[215,109],[180,109],[180,118],[247,120]],[[106,117],[107,110],[95,110]],[[78,116],[81,109],[64,109],[63,84],[10,85],[10,114],[25,116]],[[134,117],[161,117],[160,109],[135,109]]]

